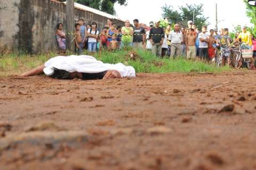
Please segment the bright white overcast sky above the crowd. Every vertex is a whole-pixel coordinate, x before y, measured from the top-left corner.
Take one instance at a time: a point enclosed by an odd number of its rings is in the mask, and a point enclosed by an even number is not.
[[[233,30],[236,25],[252,26],[250,19],[246,16],[246,7],[243,0],[127,0],[127,6],[115,4],[117,16],[123,20],[137,18],[140,22],[149,25],[150,21],[162,18],[161,7],[165,4],[172,5],[178,10],[181,5],[204,4],[204,14],[209,17],[210,26],[215,26],[215,4],[218,4],[218,28],[229,28]]]

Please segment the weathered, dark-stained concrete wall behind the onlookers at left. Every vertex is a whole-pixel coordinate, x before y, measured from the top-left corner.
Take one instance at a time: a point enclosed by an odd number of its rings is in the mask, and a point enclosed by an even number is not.
[[[42,53],[56,50],[55,30],[66,19],[66,5],[51,0],[0,1],[0,52],[27,51]],[[75,9],[75,18],[85,23],[96,21],[98,29],[107,24],[107,18],[92,12]],[[115,20],[117,25],[124,25]]]

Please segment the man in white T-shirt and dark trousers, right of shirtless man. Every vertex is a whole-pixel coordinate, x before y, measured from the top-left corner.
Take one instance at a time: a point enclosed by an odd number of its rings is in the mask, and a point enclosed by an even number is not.
[[[199,58],[202,60],[207,60],[208,59],[208,43],[209,43],[209,38],[206,35],[206,30],[207,27],[203,26],[202,27],[202,33],[198,34],[198,39],[199,39]]]

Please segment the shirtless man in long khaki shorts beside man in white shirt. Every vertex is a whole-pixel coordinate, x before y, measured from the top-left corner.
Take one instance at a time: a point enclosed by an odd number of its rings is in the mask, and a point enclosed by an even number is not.
[[[189,34],[186,36],[187,59],[196,59],[196,35],[193,28],[189,29]]]

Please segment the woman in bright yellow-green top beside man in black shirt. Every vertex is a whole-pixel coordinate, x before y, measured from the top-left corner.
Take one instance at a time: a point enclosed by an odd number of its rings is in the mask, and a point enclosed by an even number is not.
[[[128,46],[132,46],[132,41],[133,41],[133,28],[130,27],[130,21],[126,20],[124,23],[124,27],[122,28],[122,47],[124,46],[124,43],[127,43]]]

